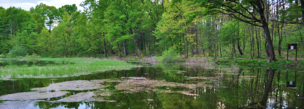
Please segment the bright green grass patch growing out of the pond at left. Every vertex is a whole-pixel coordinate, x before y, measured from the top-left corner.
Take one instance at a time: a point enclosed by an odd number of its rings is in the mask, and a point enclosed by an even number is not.
[[[74,64],[48,65],[48,66],[21,66],[1,67],[0,79],[22,78],[22,77],[69,77],[103,72],[107,70],[127,70],[138,67],[134,64],[120,60],[97,59],[97,58],[39,58],[55,62],[72,62]]]

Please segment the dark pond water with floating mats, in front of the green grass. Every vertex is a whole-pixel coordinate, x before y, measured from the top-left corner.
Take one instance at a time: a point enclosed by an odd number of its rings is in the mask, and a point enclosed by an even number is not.
[[[130,63],[141,67],[0,80],[0,108],[304,108],[303,69]]]

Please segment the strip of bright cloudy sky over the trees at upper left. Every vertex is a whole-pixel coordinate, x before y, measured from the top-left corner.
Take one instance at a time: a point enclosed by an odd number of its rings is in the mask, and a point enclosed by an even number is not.
[[[84,0],[0,0],[0,7],[7,9],[10,6],[20,7],[21,9],[28,10],[40,3],[55,6],[59,8],[63,5],[73,5],[76,4],[78,10],[83,10],[79,4]]]

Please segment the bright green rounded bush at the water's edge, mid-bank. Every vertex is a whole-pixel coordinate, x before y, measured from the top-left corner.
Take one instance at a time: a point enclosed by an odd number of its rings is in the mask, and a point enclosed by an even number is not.
[[[168,50],[165,50],[163,52],[163,55],[161,56],[161,62],[164,63],[175,63],[178,61],[178,55],[176,52],[176,49],[173,47],[170,47]]]

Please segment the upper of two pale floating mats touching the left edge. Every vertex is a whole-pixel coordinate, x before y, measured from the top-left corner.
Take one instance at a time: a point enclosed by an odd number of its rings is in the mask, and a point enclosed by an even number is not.
[[[53,97],[64,96],[69,92],[66,91],[56,91],[56,92],[22,92],[16,94],[8,94],[0,96],[0,100],[37,100],[46,99]]]

